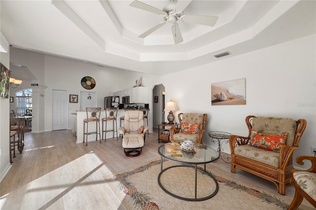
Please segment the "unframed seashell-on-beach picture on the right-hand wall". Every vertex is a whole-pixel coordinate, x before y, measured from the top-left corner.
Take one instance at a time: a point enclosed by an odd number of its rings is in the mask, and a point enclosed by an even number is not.
[[[246,79],[211,84],[212,105],[245,105]]]

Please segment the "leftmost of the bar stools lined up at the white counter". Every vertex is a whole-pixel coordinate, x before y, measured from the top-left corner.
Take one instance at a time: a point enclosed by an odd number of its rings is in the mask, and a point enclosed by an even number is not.
[[[86,108],[87,119],[83,120],[83,143],[84,143],[84,135],[85,135],[85,146],[88,145],[88,135],[95,134],[95,140],[98,140],[98,134],[101,143],[101,133],[100,133],[100,113],[101,108]],[[95,131],[89,132],[88,125],[91,122],[96,123]],[[85,125],[87,126],[85,129]],[[99,132],[98,132],[99,127]]]

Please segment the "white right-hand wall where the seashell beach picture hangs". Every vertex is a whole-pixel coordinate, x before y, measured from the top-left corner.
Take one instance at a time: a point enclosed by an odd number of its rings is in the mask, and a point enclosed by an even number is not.
[[[203,143],[213,146],[209,131],[247,136],[248,115],[306,119],[301,149],[294,158],[312,155],[311,146],[316,146],[315,40],[312,35],[164,76],[165,100],[177,101],[175,115],[207,113]],[[240,78],[246,78],[246,105],[211,106],[212,83]],[[228,144],[223,147],[230,152]]]

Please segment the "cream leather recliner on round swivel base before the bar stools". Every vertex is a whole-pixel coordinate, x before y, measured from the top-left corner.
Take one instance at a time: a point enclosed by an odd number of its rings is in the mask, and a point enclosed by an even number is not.
[[[127,157],[136,157],[141,154],[147,130],[148,126],[144,126],[143,111],[125,111],[124,127],[120,127],[118,131],[123,135],[122,147]]]

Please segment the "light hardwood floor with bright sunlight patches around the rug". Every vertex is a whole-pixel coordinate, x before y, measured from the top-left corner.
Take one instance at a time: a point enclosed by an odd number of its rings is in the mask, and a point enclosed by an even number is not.
[[[17,153],[16,158],[13,158],[12,167],[1,181],[1,205],[9,209],[21,208],[21,206],[14,206],[14,203],[17,200],[21,201],[26,198],[17,199],[16,196],[25,197],[24,191],[28,191],[28,188],[32,186],[33,191],[64,188],[62,193],[51,198],[50,202],[47,202],[38,209],[74,208],[74,206],[67,205],[67,202],[70,204],[73,202],[73,197],[79,195],[76,195],[76,192],[72,192],[72,196],[67,195],[67,192],[74,191],[75,186],[72,184],[70,187],[66,183],[69,177],[73,177],[75,180],[80,180],[80,182],[76,182],[77,185],[85,183],[83,187],[86,187],[86,191],[84,192],[87,192],[85,196],[80,195],[82,204],[79,202],[76,208],[100,209],[101,207],[94,206],[95,204],[86,204],[89,202],[93,203],[93,197],[100,193],[100,191],[94,192],[91,191],[91,189],[94,189],[95,186],[102,183],[102,177],[105,175],[116,173],[134,165],[140,165],[154,158],[159,158],[157,152],[158,146],[163,143],[158,143],[157,138],[158,130],[154,129],[154,133],[146,135],[145,147],[143,148],[142,154],[138,157],[128,158],[123,153],[121,138],[118,138],[118,140],[116,138],[107,139],[106,142],[103,140],[101,144],[99,141],[88,142],[88,146],[85,146],[85,143],[75,143],[76,137],[70,130],[43,133],[27,132],[25,133],[25,147],[23,153]],[[211,167],[220,172],[230,174],[232,177],[242,181],[262,187],[267,191],[277,192],[276,186],[272,182],[239,169],[237,169],[237,173],[231,173],[230,164],[222,160],[212,163]],[[85,170],[83,170],[83,168]],[[87,173],[86,171],[89,172]],[[94,175],[98,175],[99,177],[93,179],[93,181],[92,179],[89,180],[89,178]],[[35,183],[43,186],[34,188]],[[47,183],[49,183],[49,185],[47,185]],[[93,184],[95,186],[91,187]],[[294,197],[294,191],[294,187],[288,184],[285,197],[292,199]],[[22,195],[18,195],[19,192],[21,192]],[[67,196],[69,196],[69,198],[63,198],[63,201],[60,201],[60,198]],[[35,202],[39,197],[32,198],[31,196],[30,199],[29,202]],[[123,209],[123,207],[115,203],[117,202],[115,201],[116,199],[113,200],[114,204],[109,204],[110,206],[102,207],[101,209],[113,209],[115,206],[118,206],[117,209]],[[303,202],[308,204],[305,200]],[[32,205],[29,206],[31,209],[32,207]]]

